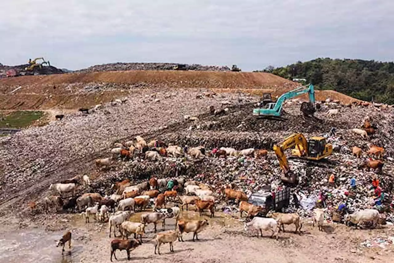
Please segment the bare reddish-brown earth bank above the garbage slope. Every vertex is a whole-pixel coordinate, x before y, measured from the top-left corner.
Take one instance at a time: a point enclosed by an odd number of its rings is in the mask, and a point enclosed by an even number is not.
[[[280,96],[298,86],[269,73],[212,71],[110,71],[13,77],[0,80],[0,109],[78,109],[141,92],[147,88],[210,89]],[[19,88],[18,90],[15,90]],[[317,100],[355,99],[334,91],[316,92]]]

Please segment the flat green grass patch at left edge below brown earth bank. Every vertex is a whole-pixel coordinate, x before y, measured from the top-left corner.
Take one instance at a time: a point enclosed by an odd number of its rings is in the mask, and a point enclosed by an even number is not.
[[[0,113],[0,128],[24,128],[44,115],[42,111],[14,111],[4,116]]]

